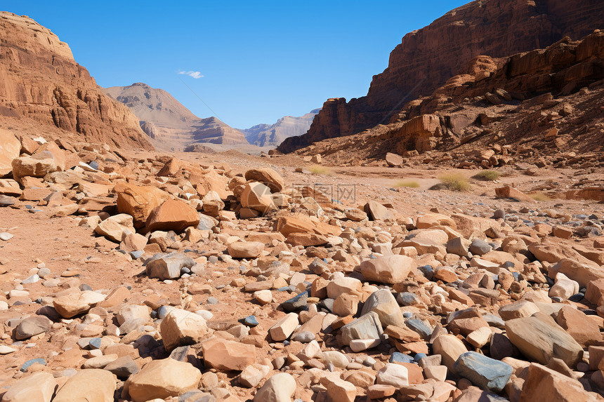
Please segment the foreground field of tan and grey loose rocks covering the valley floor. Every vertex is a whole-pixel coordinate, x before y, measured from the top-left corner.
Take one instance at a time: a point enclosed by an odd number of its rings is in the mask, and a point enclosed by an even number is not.
[[[598,200],[0,138],[3,402],[603,399]]]

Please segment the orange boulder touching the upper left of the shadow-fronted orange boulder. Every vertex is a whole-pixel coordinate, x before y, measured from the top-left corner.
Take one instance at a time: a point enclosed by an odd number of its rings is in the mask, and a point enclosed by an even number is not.
[[[117,194],[117,210],[127,213],[134,220],[134,227],[145,226],[153,208],[156,208],[170,198],[170,195],[153,186],[136,186],[119,183],[113,187]]]

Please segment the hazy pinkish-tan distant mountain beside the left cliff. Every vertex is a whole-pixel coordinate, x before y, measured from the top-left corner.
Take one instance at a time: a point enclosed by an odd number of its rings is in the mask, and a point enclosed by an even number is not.
[[[129,107],[140,120],[140,128],[165,147],[184,149],[197,144],[248,144],[239,130],[216,117],[200,119],[163,89],[138,82],[131,86],[105,88],[105,93]]]

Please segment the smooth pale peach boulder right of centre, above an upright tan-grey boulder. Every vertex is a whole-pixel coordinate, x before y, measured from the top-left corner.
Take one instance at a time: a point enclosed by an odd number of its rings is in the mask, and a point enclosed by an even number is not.
[[[415,268],[415,261],[406,255],[384,255],[365,260],[360,264],[362,276],[367,281],[399,283]]]

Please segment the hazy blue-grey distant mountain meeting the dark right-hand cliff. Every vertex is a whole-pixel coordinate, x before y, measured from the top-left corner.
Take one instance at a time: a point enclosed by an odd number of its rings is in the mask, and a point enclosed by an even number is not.
[[[308,131],[310,124],[313,123],[315,115],[321,109],[311,110],[304,116],[284,116],[274,124],[258,124],[250,128],[239,129],[244,133],[245,138],[250,144],[258,147],[277,147],[283,140],[296,135],[302,135]]]

